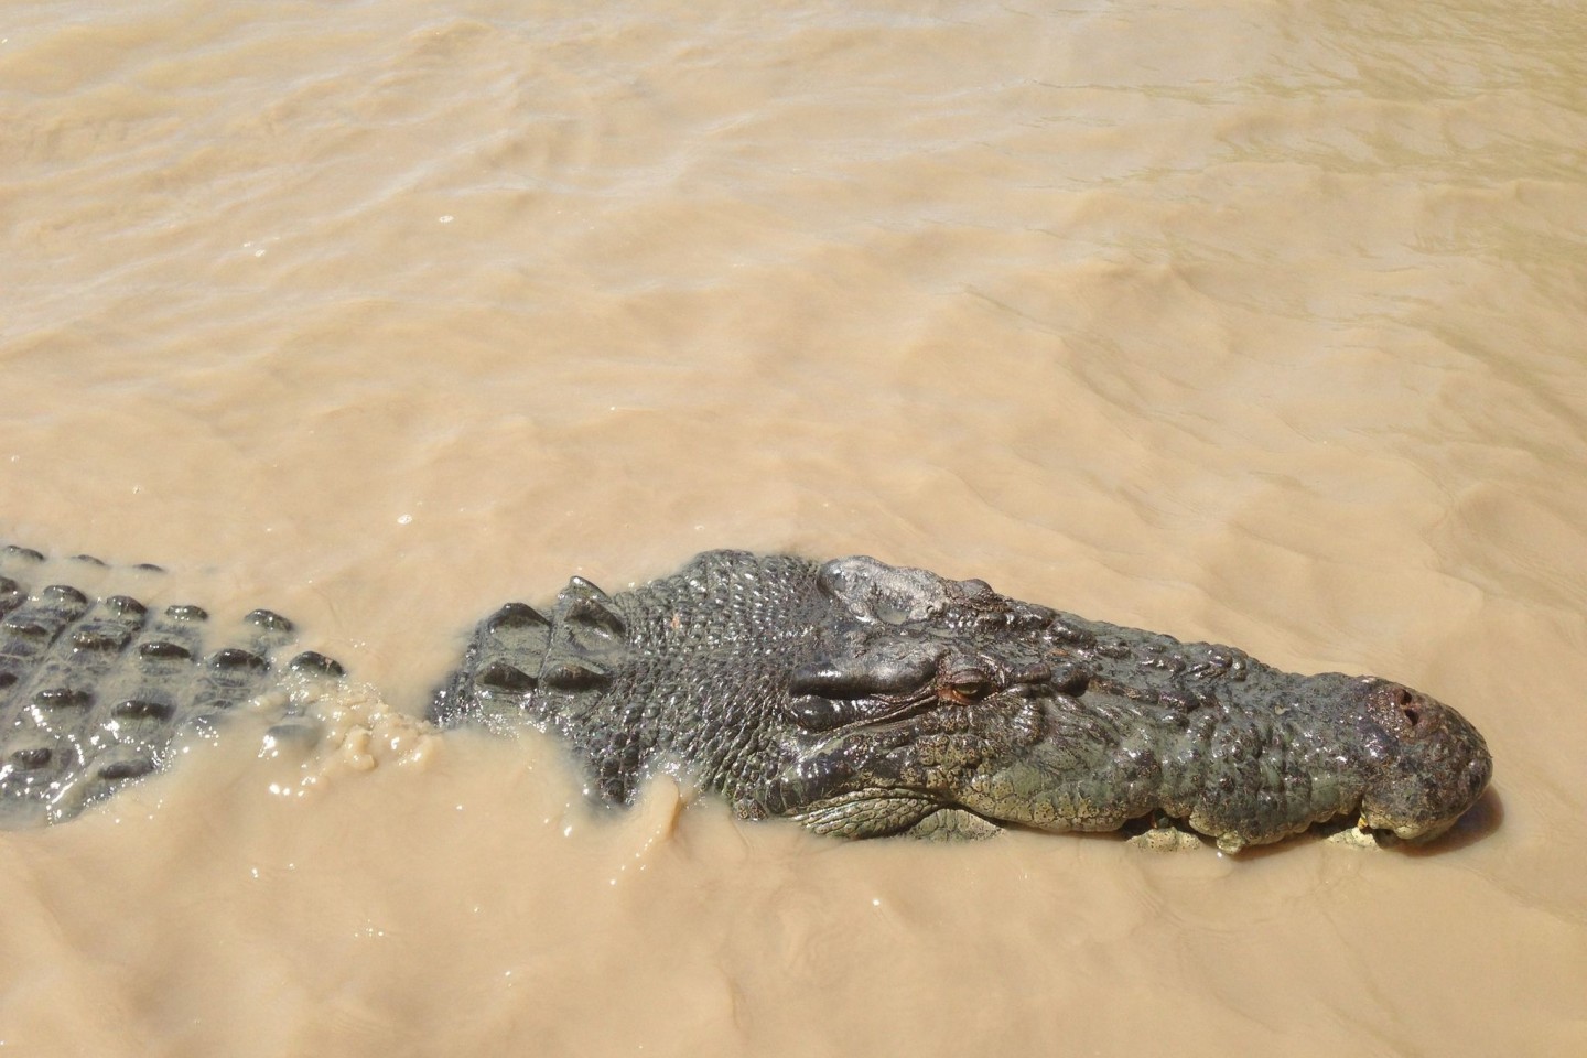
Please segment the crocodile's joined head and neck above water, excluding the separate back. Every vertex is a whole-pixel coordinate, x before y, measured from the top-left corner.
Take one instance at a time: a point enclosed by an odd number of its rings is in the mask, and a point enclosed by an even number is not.
[[[1433,838],[1492,771],[1465,719],[1397,684],[1279,673],[873,558],[708,552],[513,614],[481,625],[435,719],[557,731],[616,803],[676,761],[744,817],[844,838],[1162,811],[1238,850],[1357,812]]]

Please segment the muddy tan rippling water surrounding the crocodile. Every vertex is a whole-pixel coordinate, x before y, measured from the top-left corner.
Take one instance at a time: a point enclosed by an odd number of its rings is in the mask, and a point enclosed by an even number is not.
[[[1492,0],[8,5],[0,538],[371,690],[0,834],[0,1053],[1587,1053],[1584,86]],[[1390,676],[1495,788],[846,845],[405,726],[719,546]]]

